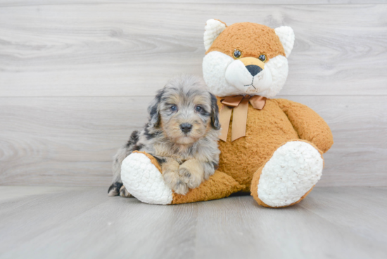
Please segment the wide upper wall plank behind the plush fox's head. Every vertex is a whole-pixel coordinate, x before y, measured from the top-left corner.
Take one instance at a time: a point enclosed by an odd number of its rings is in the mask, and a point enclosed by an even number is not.
[[[387,4],[63,4],[0,8],[0,96],[148,96],[201,75],[209,18],[289,25],[284,95],[387,94]]]

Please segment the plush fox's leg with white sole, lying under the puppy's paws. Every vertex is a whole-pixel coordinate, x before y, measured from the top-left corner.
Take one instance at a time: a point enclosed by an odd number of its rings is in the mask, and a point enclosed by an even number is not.
[[[240,191],[242,186],[229,175],[216,171],[186,195],[175,194],[165,184],[156,158],[145,152],[134,151],[122,161],[121,179],[132,196],[144,203],[177,204],[224,198]]]

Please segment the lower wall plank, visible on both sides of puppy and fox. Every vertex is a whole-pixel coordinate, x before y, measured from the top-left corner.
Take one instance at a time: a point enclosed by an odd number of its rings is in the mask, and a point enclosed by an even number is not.
[[[387,186],[385,96],[280,96],[328,122],[335,144],[319,186]],[[104,185],[151,97],[0,98],[0,182]]]

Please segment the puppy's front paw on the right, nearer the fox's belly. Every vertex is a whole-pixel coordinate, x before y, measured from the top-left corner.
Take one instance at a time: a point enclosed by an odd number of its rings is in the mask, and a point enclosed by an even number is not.
[[[196,160],[187,160],[179,167],[179,175],[182,181],[190,188],[195,189],[201,185],[204,178],[203,165]]]

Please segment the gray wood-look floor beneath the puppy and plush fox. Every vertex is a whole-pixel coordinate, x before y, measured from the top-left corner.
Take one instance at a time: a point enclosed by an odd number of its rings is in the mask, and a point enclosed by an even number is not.
[[[102,187],[0,187],[0,258],[386,258],[387,188],[316,188],[177,206]]]

